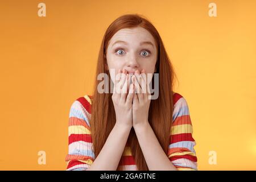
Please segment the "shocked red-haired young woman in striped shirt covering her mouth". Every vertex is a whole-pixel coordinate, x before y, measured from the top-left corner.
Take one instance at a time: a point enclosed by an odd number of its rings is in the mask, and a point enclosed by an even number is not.
[[[106,88],[126,92],[99,92],[101,73],[111,78]],[[197,170],[189,109],[173,92],[174,76],[162,39],[146,18],[114,20],[102,40],[94,94],[71,106],[67,170]],[[148,89],[141,92],[148,80],[158,82],[154,100]]]

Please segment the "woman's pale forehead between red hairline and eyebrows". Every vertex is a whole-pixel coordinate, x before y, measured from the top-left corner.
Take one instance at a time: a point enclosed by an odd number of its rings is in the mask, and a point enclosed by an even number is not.
[[[141,43],[141,42],[152,42],[155,46],[154,37],[147,31],[145,28],[142,27],[135,27],[135,28],[123,28],[117,31],[113,37],[110,39],[109,44],[112,45],[115,41],[121,40],[127,43]]]

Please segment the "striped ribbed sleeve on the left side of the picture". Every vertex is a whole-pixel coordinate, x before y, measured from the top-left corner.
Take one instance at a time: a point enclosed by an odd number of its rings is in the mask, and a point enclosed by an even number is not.
[[[67,171],[86,170],[94,161],[90,131],[89,96],[78,98],[69,111]]]

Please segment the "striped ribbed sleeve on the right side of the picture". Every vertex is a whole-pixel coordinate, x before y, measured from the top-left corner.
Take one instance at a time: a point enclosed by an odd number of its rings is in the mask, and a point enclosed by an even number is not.
[[[171,127],[168,158],[178,170],[197,170],[196,142],[187,101],[180,94],[174,95],[173,123]]]

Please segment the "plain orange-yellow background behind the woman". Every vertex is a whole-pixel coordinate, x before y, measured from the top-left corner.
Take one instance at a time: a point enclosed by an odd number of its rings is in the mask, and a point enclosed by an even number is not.
[[[143,14],[162,36],[199,170],[256,169],[256,1],[213,1],[212,18],[207,0],[43,1],[46,17],[40,2],[0,2],[0,169],[65,170],[70,106],[92,93],[104,32],[126,13]]]

